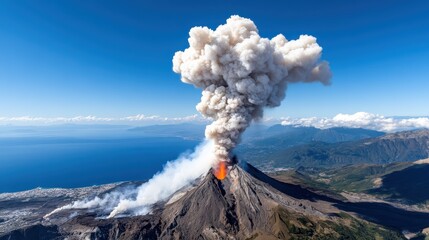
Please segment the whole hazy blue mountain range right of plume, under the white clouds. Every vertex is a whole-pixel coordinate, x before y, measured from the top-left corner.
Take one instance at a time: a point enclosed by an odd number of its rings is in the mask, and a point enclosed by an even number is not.
[[[342,131],[349,132],[349,129]],[[345,139],[344,135],[339,135],[335,129],[329,129],[329,134],[324,134],[324,138],[319,137],[317,140],[309,137],[308,133],[296,134],[296,137],[284,134],[245,142],[238,148],[237,154],[265,170],[300,166],[329,168],[356,163],[385,164],[429,157],[429,130],[387,135],[369,130],[354,131],[350,138],[361,138],[360,140],[340,141]],[[371,137],[371,134],[376,137]],[[320,135],[319,132],[315,136]],[[299,136],[301,139],[297,140]]]

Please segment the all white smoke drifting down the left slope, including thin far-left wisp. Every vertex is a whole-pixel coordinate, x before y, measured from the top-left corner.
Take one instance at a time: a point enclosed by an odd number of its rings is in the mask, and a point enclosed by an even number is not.
[[[121,189],[92,199],[75,201],[53,210],[44,218],[49,219],[67,209],[90,209],[108,218],[147,214],[154,203],[166,200],[204,176],[215,162],[213,151],[213,142],[204,141],[192,153],[185,153],[178,159],[167,162],[161,172],[138,188]]]

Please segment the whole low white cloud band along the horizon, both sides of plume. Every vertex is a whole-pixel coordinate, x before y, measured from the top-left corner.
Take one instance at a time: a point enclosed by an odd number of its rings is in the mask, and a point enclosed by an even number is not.
[[[44,125],[44,124],[174,124],[185,122],[200,122],[206,123],[208,119],[201,117],[198,114],[184,117],[162,117],[157,115],[137,114],[127,117],[96,117],[96,116],[76,116],[76,117],[0,117],[0,125]],[[265,124],[275,124],[279,122],[276,118],[264,118],[261,122]],[[395,132],[416,128],[429,128],[428,117],[409,117],[409,118],[394,118],[385,117],[379,114],[366,112],[357,112],[354,114],[337,114],[333,118],[281,118],[282,125],[306,126],[326,129],[331,127],[350,127],[350,128],[366,128],[384,132]]]

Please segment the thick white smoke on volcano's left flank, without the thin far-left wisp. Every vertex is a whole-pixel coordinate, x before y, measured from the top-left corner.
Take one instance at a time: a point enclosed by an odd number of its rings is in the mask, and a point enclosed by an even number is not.
[[[122,199],[109,218],[122,213],[146,214],[151,205],[167,199],[177,190],[206,174],[215,162],[213,146],[210,141],[203,142],[192,154],[168,162],[162,172],[138,188],[135,199]]]

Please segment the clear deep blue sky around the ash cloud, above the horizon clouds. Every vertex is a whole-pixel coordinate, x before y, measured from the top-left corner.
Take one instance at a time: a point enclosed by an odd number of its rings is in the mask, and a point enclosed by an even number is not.
[[[0,117],[196,113],[173,73],[193,26],[232,14],[260,35],[318,38],[332,85],[291,85],[268,116],[429,115],[427,1],[14,1],[0,3]]]

